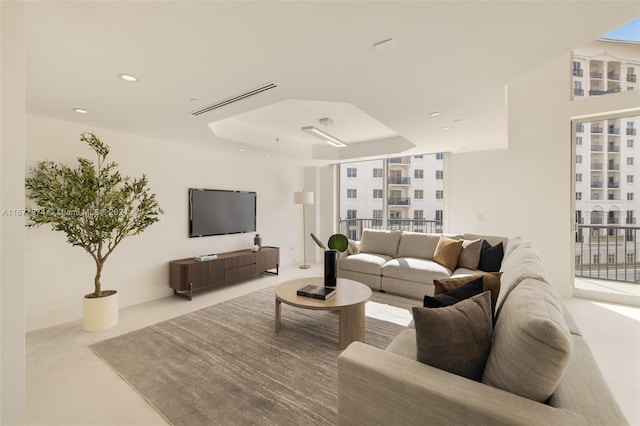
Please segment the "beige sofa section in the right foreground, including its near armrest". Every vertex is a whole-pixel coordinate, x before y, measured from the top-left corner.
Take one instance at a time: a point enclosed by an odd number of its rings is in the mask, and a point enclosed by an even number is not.
[[[519,238],[506,245],[481,380],[417,361],[413,327],[386,350],[354,342],[338,357],[340,425],[628,424],[535,248]],[[384,289],[384,270],[380,277]],[[409,283],[432,289],[405,277],[395,290],[415,297]]]

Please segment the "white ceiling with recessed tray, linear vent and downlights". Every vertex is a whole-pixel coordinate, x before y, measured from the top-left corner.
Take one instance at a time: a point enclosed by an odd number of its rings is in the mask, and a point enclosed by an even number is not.
[[[303,163],[503,148],[506,85],[639,4],[29,1],[27,112]],[[267,82],[278,87],[189,114]],[[300,131],[324,117],[347,148]]]

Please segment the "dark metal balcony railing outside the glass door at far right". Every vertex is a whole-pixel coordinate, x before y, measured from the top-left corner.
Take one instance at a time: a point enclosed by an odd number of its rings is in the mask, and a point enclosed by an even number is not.
[[[640,283],[640,233],[636,226],[578,225],[576,276]]]

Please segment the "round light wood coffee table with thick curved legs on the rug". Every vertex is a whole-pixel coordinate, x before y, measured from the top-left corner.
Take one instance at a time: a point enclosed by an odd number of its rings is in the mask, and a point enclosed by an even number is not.
[[[276,333],[280,331],[281,303],[301,309],[337,311],[340,315],[338,331],[340,349],[353,341],[364,342],[364,305],[371,298],[371,289],[357,281],[338,278],[336,294],[327,300],[298,296],[296,291],[306,285],[324,285],[324,277],[297,278],[276,287]]]

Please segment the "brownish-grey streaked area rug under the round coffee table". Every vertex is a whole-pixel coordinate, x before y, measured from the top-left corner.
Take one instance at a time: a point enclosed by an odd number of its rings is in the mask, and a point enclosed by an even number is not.
[[[192,312],[91,349],[174,425],[337,422],[338,315],[282,305],[274,288]],[[384,348],[401,325],[367,317]]]

